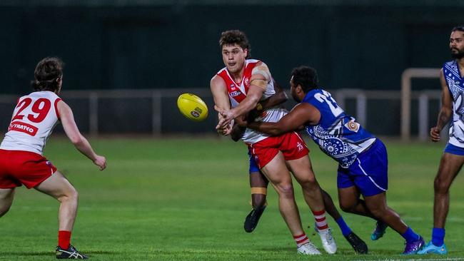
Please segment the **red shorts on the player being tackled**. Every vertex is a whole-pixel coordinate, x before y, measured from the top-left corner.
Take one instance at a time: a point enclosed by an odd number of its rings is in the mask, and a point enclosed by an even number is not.
[[[296,132],[265,138],[249,144],[248,149],[260,169],[271,162],[279,151],[283,153],[285,160],[296,160],[309,153],[306,143]]]

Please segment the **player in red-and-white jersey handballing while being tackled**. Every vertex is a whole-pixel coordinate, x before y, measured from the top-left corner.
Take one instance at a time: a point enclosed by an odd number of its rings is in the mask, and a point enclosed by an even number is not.
[[[243,32],[225,31],[221,34],[219,44],[226,67],[211,79],[211,92],[217,109],[221,111],[218,114],[220,122],[217,129],[220,133],[228,135],[231,133],[233,118],[245,115],[256,108],[259,101],[276,92],[266,64],[259,60],[248,59],[248,39]],[[256,121],[276,122],[286,113],[287,111],[280,107],[269,108],[263,111]],[[321,226],[318,228],[320,234],[324,235],[321,239],[325,250],[329,253],[336,252],[336,243],[328,230],[325,218],[321,188],[311,169],[308,148],[298,133],[270,137],[246,129],[242,140],[248,145],[258,167],[276,188],[279,195],[279,209],[296,241],[297,251],[306,255],[321,254],[303,231],[287,165],[300,183],[306,203],[313,215],[320,221],[318,225]]]

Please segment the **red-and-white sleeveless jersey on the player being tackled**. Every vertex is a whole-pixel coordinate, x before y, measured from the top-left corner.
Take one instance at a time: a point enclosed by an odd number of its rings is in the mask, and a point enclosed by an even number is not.
[[[246,98],[246,93],[248,93],[248,88],[250,87],[251,71],[253,71],[253,68],[259,62],[259,60],[254,59],[248,59],[245,61],[245,71],[243,72],[241,83],[236,83],[233,81],[233,78],[228,73],[227,68],[223,68],[221,71],[218,71],[217,75],[223,78],[223,80],[226,82],[228,96],[231,100],[232,108],[238,106],[238,104],[240,104],[241,101]],[[266,86],[266,90],[264,91],[263,96],[261,96],[261,101],[273,96],[273,94],[276,94],[276,90],[274,89],[273,81],[270,81]],[[288,111],[284,108],[269,108],[266,111],[263,111],[261,116],[256,118],[255,121],[276,123],[287,113]],[[269,135],[254,131],[251,128],[246,128],[242,140],[245,143],[253,144],[268,137]]]

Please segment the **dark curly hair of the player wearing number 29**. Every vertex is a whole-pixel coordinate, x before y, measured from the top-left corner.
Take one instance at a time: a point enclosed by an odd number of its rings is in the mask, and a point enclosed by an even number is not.
[[[37,63],[34,71],[34,81],[31,86],[34,91],[56,91],[59,88],[57,78],[63,77],[64,63],[57,57],[46,57]]]

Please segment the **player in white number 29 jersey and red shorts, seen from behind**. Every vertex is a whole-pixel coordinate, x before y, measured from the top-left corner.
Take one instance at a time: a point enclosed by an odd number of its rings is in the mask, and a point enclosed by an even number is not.
[[[18,99],[11,123],[0,145],[0,217],[13,203],[16,187],[25,185],[59,200],[59,232],[56,258],[86,259],[74,248],[71,231],[76,219],[78,193],[49,160],[42,156],[46,139],[61,121],[66,135],[100,170],[106,158],[97,155],[79,132],[71,108],[58,94],[63,84],[62,62],[44,58],[34,71],[34,92]]]

